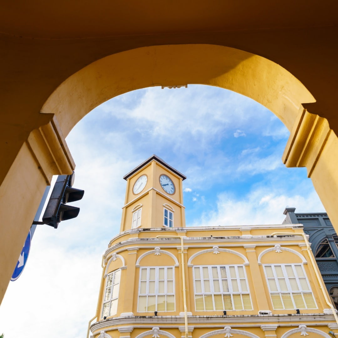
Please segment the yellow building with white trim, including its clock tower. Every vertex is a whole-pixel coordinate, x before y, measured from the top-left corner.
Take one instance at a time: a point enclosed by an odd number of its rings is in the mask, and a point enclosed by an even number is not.
[[[331,337],[337,315],[301,224],[186,227],[183,174],[156,155],[124,176],[93,338]]]

